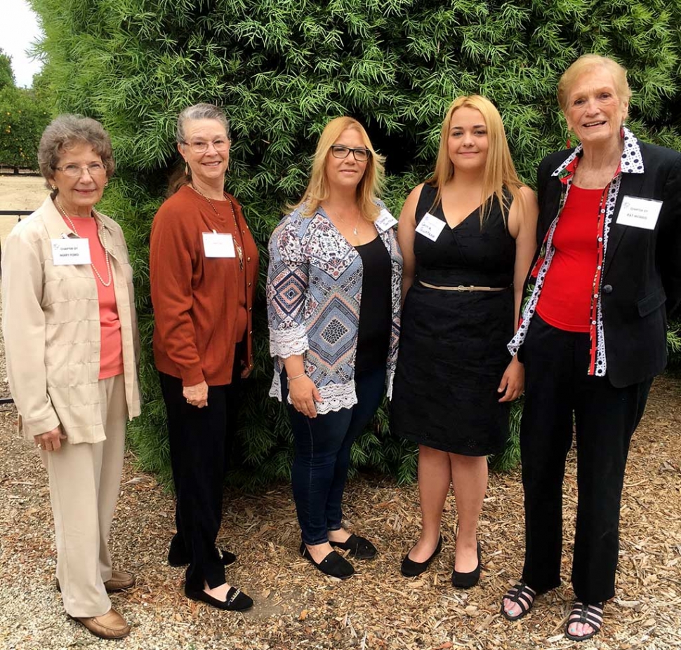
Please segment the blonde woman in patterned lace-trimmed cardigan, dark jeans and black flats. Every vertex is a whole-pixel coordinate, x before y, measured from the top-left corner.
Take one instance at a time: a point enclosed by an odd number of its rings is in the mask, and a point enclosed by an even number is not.
[[[397,357],[402,255],[396,221],[376,198],[382,180],[383,158],[362,125],[333,119],[308,189],[270,239],[270,394],[289,405],[300,554],[337,578],[354,569],[332,546],[376,555],[343,528],[341,501],[350,447],[384,386],[390,395]]]

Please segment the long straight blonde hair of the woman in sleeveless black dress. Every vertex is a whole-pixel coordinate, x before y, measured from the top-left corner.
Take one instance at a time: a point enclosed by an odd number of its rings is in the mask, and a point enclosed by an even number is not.
[[[508,188],[512,201],[518,200],[522,202],[520,189],[524,185],[515,171],[515,165],[513,165],[501,115],[499,115],[496,106],[487,97],[482,97],[482,95],[456,97],[456,100],[447,109],[447,114],[442,121],[435,171],[432,177],[426,181],[432,187],[437,188],[433,207],[442,200],[442,189],[454,177],[454,163],[449,158],[449,130],[452,116],[460,108],[480,111],[487,127],[487,163],[484,165],[482,196],[480,200],[481,205],[484,203],[484,208],[480,210],[480,226],[482,227],[484,219],[489,215],[494,197],[496,197],[499,203],[505,224],[510,203],[504,199],[503,188]]]

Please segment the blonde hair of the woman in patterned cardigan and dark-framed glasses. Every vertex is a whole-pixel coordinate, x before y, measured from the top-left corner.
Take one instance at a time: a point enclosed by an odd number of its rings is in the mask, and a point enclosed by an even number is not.
[[[362,124],[351,117],[337,117],[331,120],[319,136],[315,155],[312,157],[312,173],[310,182],[305,189],[303,198],[295,205],[289,205],[289,210],[303,207],[303,216],[311,217],[322,201],[329,198],[329,181],[326,179],[326,159],[329,156],[331,145],[341,137],[341,133],[346,129],[354,129],[362,137],[362,144],[371,151],[371,156],[366,162],[366,168],[362,180],[357,185],[357,204],[359,212],[367,221],[374,222],[380,212],[376,199],[381,194],[383,180],[385,178],[385,168],[383,163],[385,158],[374,151]],[[348,154],[352,155],[352,154]]]

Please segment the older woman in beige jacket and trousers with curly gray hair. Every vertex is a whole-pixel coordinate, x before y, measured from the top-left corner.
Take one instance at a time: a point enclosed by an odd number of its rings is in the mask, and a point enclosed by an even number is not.
[[[14,227],[2,259],[8,377],[20,431],[48,471],[64,607],[115,639],[130,628],[107,592],[135,580],[112,569],[108,539],[140,398],[128,250],[94,209],[114,170],[110,138],[93,119],[59,116],[39,164],[51,194]]]

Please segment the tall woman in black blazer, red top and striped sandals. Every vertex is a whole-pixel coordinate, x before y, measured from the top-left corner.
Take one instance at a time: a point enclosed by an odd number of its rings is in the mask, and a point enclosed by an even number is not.
[[[581,144],[538,169],[538,251],[509,344],[524,363],[520,431],[525,563],[505,595],[511,621],[560,583],[562,479],[574,431],[578,504],[565,633],[597,633],[614,596],[631,436],[666,365],[666,316],[681,301],[681,154],[625,126],[626,70],[584,55],[558,100]]]

